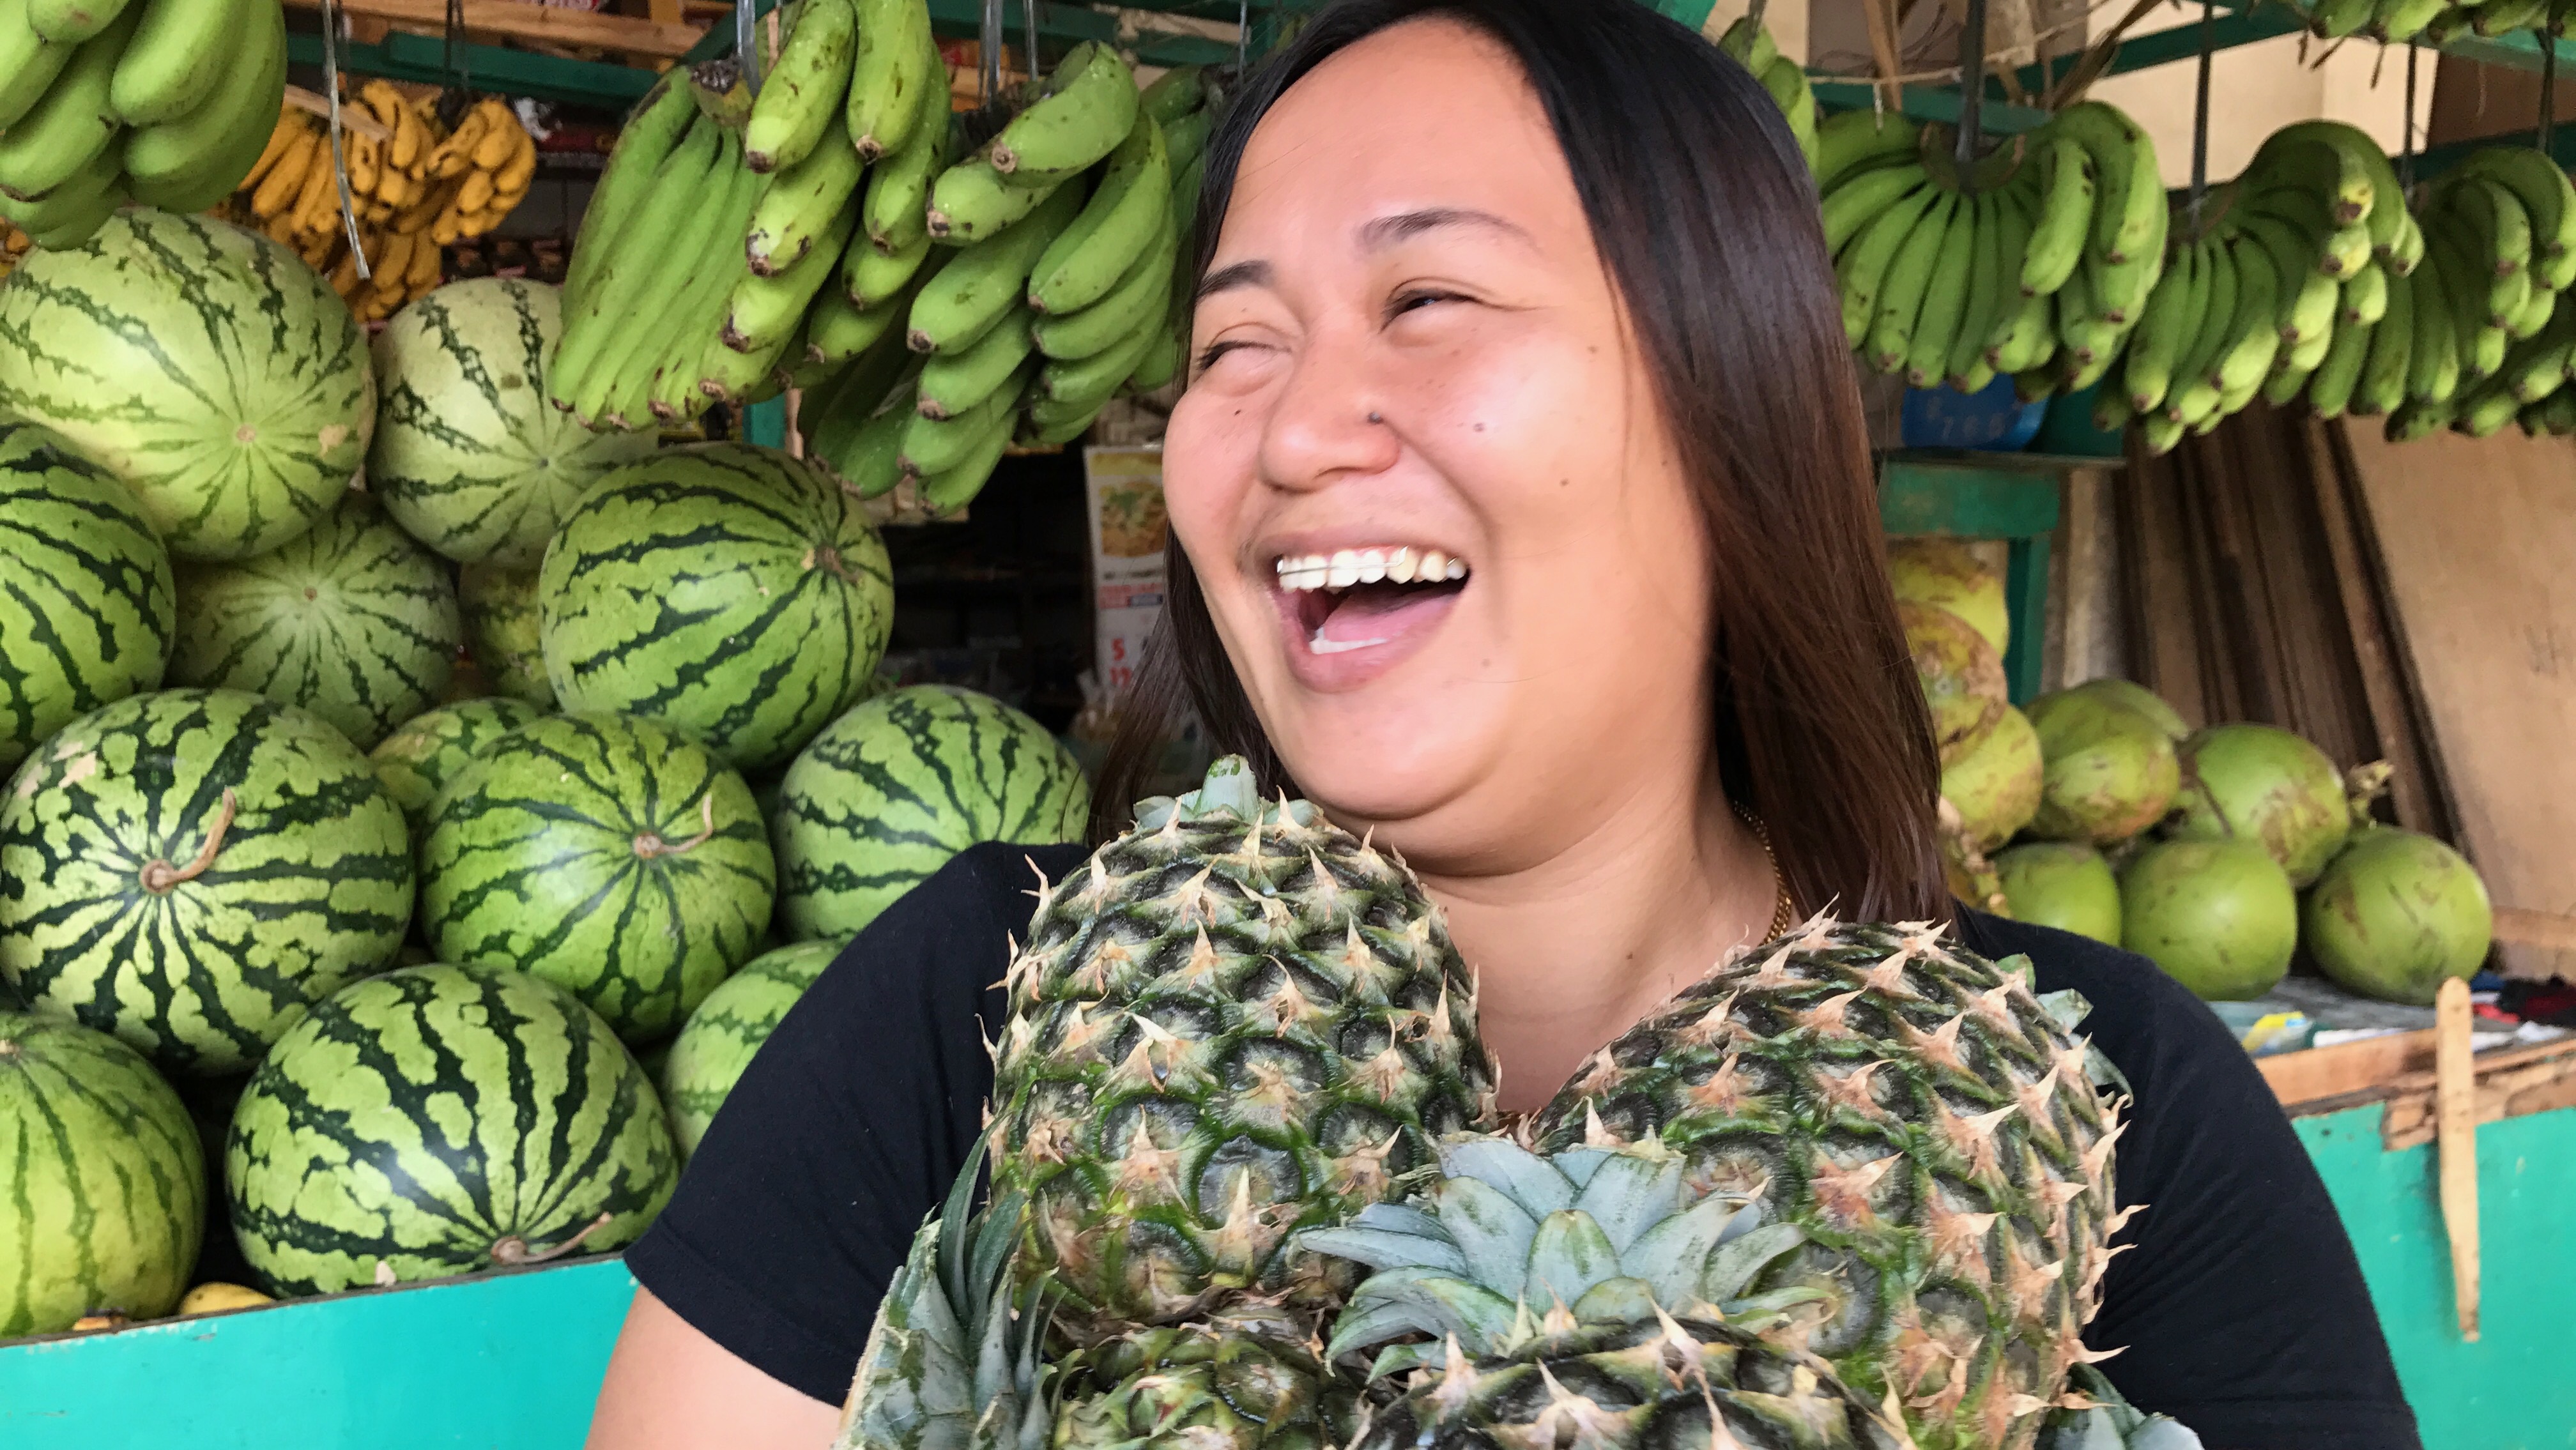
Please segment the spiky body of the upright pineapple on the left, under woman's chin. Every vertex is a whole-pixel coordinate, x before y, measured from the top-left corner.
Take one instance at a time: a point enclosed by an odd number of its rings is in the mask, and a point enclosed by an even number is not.
[[[1494,1123],[1473,981],[1412,871],[1303,801],[1255,814],[1108,842],[1012,958],[994,1177],[1074,1342],[1340,1303],[1350,1267],[1288,1234]]]

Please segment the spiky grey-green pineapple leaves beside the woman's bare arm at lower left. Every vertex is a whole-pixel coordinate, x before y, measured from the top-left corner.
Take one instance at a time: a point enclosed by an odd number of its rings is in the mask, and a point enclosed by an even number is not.
[[[835,1450],[1046,1450],[1046,1313],[1010,1272],[1020,1203],[974,1213],[981,1169],[976,1144],[886,1285]]]

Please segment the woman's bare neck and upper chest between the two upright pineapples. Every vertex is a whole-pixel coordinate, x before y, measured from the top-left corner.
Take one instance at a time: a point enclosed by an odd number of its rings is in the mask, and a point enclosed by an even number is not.
[[[1504,1113],[1546,1105],[1726,948],[1762,940],[1777,907],[1770,852],[1716,786],[1638,793],[1543,863],[1422,883],[1476,971]]]

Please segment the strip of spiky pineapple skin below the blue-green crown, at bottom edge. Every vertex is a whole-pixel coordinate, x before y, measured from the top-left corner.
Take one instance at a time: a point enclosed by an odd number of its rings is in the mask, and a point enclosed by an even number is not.
[[[1899,1450],[1814,1355],[1713,1319],[1589,1324],[1425,1368],[1352,1450]]]

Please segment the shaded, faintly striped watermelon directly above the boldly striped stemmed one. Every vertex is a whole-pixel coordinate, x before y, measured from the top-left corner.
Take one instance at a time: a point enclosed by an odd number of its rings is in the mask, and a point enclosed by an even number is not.
[[[178,587],[173,683],[304,706],[358,749],[438,703],[464,641],[448,567],[366,494],[258,559],[180,569]]]

